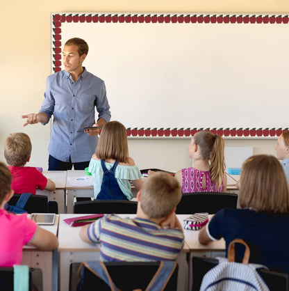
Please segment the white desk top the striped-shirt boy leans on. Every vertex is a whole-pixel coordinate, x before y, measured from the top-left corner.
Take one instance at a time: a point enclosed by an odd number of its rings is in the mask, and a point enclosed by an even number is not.
[[[83,242],[79,237],[79,231],[81,226],[72,227],[68,223],[65,223],[63,219],[71,217],[81,217],[86,214],[60,214],[60,221],[58,227],[58,251],[100,251],[100,246],[97,244],[87,244]],[[88,214],[89,215],[89,214]],[[135,217],[135,214],[118,214],[123,217]],[[177,214],[181,225],[183,225],[183,219],[188,217],[188,214]],[[221,239],[217,242],[212,242],[208,245],[199,244],[198,230],[184,230],[185,244],[183,251],[224,251],[225,242]]]

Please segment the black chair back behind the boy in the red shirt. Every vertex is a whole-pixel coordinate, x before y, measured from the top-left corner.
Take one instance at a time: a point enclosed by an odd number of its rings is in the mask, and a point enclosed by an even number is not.
[[[9,200],[10,205],[16,205],[21,194],[14,194]],[[28,213],[48,213],[48,198],[44,195],[31,195],[24,206]]]

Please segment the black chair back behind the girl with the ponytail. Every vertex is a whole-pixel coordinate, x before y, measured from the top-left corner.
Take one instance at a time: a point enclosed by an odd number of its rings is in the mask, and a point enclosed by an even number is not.
[[[194,214],[208,212],[215,214],[222,208],[236,208],[238,194],[220,192],[199,192],[183,194],[179,205],[176,206],[176,214]]]

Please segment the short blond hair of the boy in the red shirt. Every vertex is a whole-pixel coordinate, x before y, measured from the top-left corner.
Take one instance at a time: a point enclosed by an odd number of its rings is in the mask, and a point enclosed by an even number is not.
[[[24,166],[31,156],[31,140],[27,134],[10,134],[5,141],[4,157],[10,166]]]

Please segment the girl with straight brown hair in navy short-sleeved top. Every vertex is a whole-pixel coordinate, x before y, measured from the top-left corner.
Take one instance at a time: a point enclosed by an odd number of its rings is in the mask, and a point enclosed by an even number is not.
[[[218,211],[199,232],[199,242],[224,237],[227,251],[233,239],[244,239],[250,262],[289,274],[289,191],[281,164],[270,155],[249,157],[239,187],[241,209]],[[238,244],[236,250],[240,252]]]

